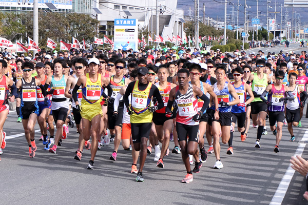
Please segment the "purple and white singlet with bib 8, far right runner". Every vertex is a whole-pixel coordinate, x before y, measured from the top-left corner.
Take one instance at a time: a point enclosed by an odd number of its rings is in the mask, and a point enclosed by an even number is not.
[[[279,102],[281,97],[285,97],[284,86],[280,90],[276,90],[274,84],[272,84],[272,92],[268,93],[268,101],[272,102],[268,110],[272,112],[283,112],[284,111],[284,100]]]

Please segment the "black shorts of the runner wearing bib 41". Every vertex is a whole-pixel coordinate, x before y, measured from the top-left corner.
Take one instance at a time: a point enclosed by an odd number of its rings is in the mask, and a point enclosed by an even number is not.
[[[177,133],[179,141],[196,141],[199,142],[199,125],[184,125],[177,122]]]

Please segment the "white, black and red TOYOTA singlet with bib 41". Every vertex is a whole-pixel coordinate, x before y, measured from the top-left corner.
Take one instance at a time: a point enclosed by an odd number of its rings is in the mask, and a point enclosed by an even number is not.
[[[196,122],[192,119],[198,113],[198,99],[194,96],[192,85],[188,85],[189,87],[185,94],[181,94],[179,86],[176,87],[177,122],[191,126],[199,125],[199,121]]]

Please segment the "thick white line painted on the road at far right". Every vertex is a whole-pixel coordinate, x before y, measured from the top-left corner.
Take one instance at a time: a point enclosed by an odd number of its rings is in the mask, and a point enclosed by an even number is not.
[[[308,130],[305,132],[305,134],[303,135],[301,140],[308,140]],[[303,151],[305,149],[305,146],[306,146],[306,144],[298,144],[296,152],[293,156],[297,156],[297,155],[302,156]],[[291,165],[292,165],[292,163],[290,163],[287,170],[285,171],[285,174],[284,174],[284,176],[282,177],[282,179],[279,183],[279,186],[276,190],[276,193],[274,194],[271,203],[269,203],[270,205],[271,204],[277,205],[277,204],[282,203],[284,196],[285,196],[285,193],[288,189],[288,186],[290,185],[290,182],[291,182],[293,175],[295,173],[295,170],[292,169]]]

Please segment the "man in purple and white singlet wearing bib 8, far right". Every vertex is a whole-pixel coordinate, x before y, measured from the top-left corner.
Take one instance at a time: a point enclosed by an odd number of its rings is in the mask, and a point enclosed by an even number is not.
[[[276,135],[276,145],[274,152],[279,152],[279,142],[282,137],[282,126],[284,120],[284,101],[285,100],[294,100],[294,96],[290,89],[282,84],[284,79],[284,72],[278,70],[275,72],[276,82],[274,84],[268,85],[265,91],[261,95],[261,99],[268,106],[268,119],[269,126],[273,134]],[[265,95],[268,93],[267,99]],[[275,126],[277,122],[277,128]]]

